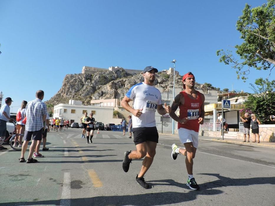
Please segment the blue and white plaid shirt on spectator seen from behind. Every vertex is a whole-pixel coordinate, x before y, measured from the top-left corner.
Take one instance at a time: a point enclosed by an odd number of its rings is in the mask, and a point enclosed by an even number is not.
[[[43,115],[47,114],[47,107],[40,99],[34,99],[27,104],[25,114],[27,117],[26,130],[38,131],[43,127]]]

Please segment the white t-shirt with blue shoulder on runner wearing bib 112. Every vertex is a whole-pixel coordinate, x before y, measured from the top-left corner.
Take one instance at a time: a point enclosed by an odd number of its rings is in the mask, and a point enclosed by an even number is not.
[[[133,128],[155,127],[157,105],[162,105],[160,91],[154,86],[142,82],[131,87],[126,97],[134,101],[134,109],[142,109],[140,117],[135,117],[134,115],[132,117]]]

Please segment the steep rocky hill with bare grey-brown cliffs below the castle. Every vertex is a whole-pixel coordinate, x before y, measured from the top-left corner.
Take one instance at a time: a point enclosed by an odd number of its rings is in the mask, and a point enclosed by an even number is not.
[[[68,103],[69,99],[80,100],[90,104],[90,100],[108,97],[120,99],[135,84],[143,82],[142,74],[132,75],[124,69],[118,71],[96,72],[95,74],[67,74],[62,87],[46,104]],[[164,89],[173,87],[173,75],[158,72],[154,82],[156,87]],[[182,88],[182,77],[175,76],[175,88]],[[200,89],[203,84],[196,83]]]

